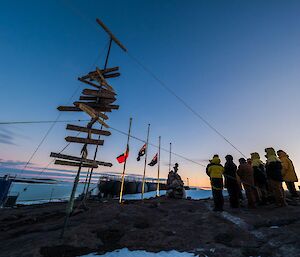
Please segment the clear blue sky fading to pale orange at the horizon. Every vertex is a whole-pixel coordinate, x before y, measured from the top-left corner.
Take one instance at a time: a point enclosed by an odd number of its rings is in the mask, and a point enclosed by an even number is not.
[[[208,186],[208,160],[227,154],[242,157],[147,71],[183,99],[202,118],[249,156],[264,149],[283,149],[300,176],[300,2],[299,1],[3,1],[0,8],[0,121],[55,120],[56,107],[69,105],[87,88],[77,78],[103,67],[107,34],[100,18],[128,48],[113,45],[109,67],[121,76],[109,82],[117,91],[118,111],[109,125],[128,130],[189,160],[172,155],[190,185]],[[146,70],[139,65],[141,63]],[[62,113],[60,120],[88,119]],[[75,122],[75,124],[79,124]],[[80,123],[84,124],[84,123]],[[51,124],[0,125],[1,173],[22,170]],[[38,174],[73,135],[57,123],[24,174]],[[141,175],[136,156],[142,142],[130,142],[127,172]],[[115,160],[126,136],[112,131],[98,159],[112,162],[101,172],[121,172]],[[90,156],[93,149],[90,149]],[[149,147],[150,159],[157,149]],[[72,144],[65,154],[79,156]],[[168,153],[161,154],[161,175],[168,173]],[[43,177],[64,175],[49,165]],[[67,173],[73,174],[70,169]],[[73,173],[72,173],[73,172]],[[57,175],[57,174],[56,174]],[[68,175],[68,176],[69,176]],[[157,176],[157,167],[146,175]],[[64,175],[65,176],[65,175]]]

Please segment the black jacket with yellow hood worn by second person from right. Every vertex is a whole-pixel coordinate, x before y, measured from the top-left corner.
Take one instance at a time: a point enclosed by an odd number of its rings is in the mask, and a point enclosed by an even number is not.
[[[280,159],[276,156],[275,150],[273,148],[266,148],[266,173],[267,178],[275,181],[283,181],[282,178],[282,164]]]

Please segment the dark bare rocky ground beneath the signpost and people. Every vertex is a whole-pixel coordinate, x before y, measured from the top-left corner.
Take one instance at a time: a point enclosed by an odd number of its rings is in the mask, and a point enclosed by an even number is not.
[[[300,204],[213,212],[211,200],[89,201],[59,239],[66,203],[0,210],[0,256],[72,257],[119,248],[199,256],[300,256]]]

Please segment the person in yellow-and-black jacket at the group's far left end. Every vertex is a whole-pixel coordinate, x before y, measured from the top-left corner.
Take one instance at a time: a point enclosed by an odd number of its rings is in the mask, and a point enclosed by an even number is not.
[[[221,160],[217,154],[213,156],[210,163],[207,165],[206,173],[210,177],[212,195],[214,198],[214,211],[223,211],[223,173],[224,167],[221,165]]]

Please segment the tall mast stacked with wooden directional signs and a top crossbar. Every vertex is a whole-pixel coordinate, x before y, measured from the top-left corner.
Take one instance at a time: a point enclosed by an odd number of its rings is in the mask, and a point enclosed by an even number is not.
[[[103,145],[104,140],[101,140],[101,136],[110,136],[111,133],[103,128],[109,128],[109,125],[106,123],[108,116],[106,113],[111,112],[112,110],[119,109],[118,105],[113,105],[116,101],[116,93],[114,88],[107,82],[107,79],[119,77],[120,73],[118,72],[119,67],[107,68],[109,55],[112,47],[112,42],[116,43],[123,51],[127,49],[121,44],[121,42],[111,33],[111,31],[105,26],[105,24],[97,19],[97,23],[104,29],[104,31],[109,35],[109,47],[105,58],[105,64],[103,69],[96,67],[94,71],[89,72],[87,75],[78,78],[84,84],[92,86],[94,89],[84,89],[79,98],[79,101],[73,103],[73,106],[59,106],[57,109],[59,111],[75,111],[75,112],[85,112],[90,116],[91,120],[86,125],[86,127],[77,126],[68,124],[66,129],[72,131],[78,131],[81,133],[87,133],[86,137],[73,137],[68,136],[65,138],[67,142],[83,144],[81,149],[81,156],[70,156],[60,153],[51,153],[50,156],[56,158],[55,164],[66,165],[66,166],[75,166],[78,167],[76,177],[74,179],[74,184],[72,192],[70,195],[69,202],[66,209],[66,217],[61,232],[61,237],[63,237],[65,228],[68,224],[69,217],[73,211],[74,199],[76,194],[76,189],[80,179],[81,169],[83,167],[90,168],[89,170],[89,180],[86,187],[86,193],[89,189],[89,183],[91,181],[92,173],[94,168],[98,168],[99,165],[111,167],[112,164],[108,162],[96,161],[98,147]],[[101,125],[100,129],[93,128],[93,126],[99,123]],[[92,138],[93,135],[98,135],[97,139]],[[88,146],[96,145],[95,153],[93,159],[87,159],[88,157]],[[86,195],[86,194],[85,194]],[[86,197],[86,196],[85,196]]]

